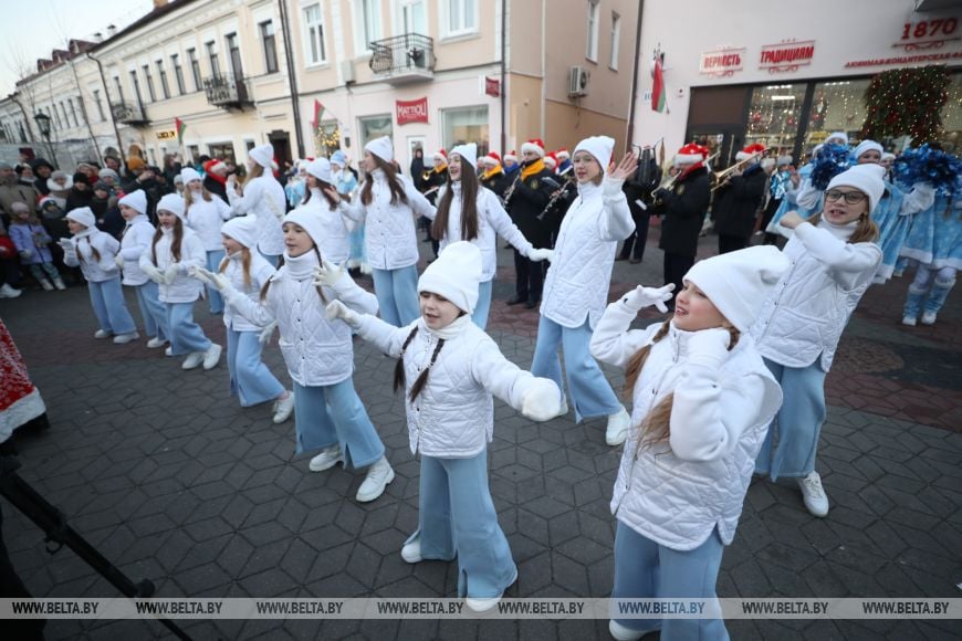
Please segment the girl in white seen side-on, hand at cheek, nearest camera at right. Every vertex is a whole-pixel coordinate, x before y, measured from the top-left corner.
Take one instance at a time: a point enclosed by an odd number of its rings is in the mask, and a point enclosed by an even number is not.
[[[592,354],[625,368],[631,428],[611,498],[617,518],[615,639],[728,639],[718,619],[631,619],[618,599],[715,597],[755,454],[778,409],[778,383],[747,330],[788,269],[773,246],[700,261],[684,275],[675,315],[629,329],[642,307],[662,313],[675,285],[638,286],[598,320]]]

